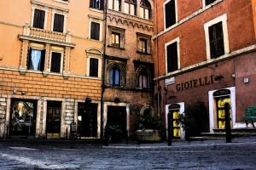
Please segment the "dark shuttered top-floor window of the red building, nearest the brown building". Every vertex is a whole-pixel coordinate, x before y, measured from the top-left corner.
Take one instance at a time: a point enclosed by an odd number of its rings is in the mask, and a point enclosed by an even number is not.
[[[167,1],[167,3],[164,3],[166,28],[173,26],[177,22],[175,3],[176,0],[170,0],[169,2]]]

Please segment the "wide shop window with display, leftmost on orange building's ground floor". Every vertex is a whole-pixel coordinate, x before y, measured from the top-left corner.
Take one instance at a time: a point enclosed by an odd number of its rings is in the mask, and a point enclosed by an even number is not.
[[[27,138],[36,131],[37,105],[35,100],[12,99],[10,136]]]

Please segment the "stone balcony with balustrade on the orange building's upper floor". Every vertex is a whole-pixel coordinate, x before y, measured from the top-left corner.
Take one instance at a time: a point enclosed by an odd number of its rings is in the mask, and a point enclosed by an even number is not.
[[[75,44],[71,42],[70,31],[67,31],[67,33],[48,31],[39,28],[33,28],[28,26],[28,24],[23,27],[23,34],[19,35],[19,38],[35,42],[47,42],[72,48],[75,46]]]

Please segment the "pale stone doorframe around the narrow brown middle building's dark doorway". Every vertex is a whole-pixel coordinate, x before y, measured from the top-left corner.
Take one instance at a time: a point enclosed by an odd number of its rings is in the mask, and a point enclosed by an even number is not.
[[[130,104],[128,103],[114,103],[114,102],[104,102],[104,113],[103,113],[103,135],[105,132],[105,127],[108,121],[108,106],[123,106],[126,107],[126,130],[128,137],[130,136]]]

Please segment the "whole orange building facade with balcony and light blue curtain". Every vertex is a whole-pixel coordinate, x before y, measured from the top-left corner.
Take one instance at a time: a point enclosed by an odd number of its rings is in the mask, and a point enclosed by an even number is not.
[[[0,137],[100,138],[104,18],[90,1],[0,3]],[[86,99],[86,102],[85,102]]]

